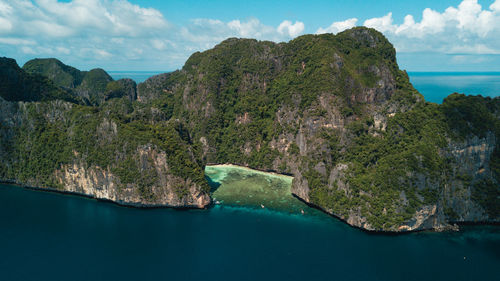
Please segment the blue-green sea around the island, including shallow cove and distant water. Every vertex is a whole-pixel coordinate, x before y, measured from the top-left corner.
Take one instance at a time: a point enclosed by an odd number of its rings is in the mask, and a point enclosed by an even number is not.
[[[121,74],[112,73],[137,82],[157,73]],[[492,97],[500,92],[498,73],[409,74],[426,99],[437,103],[452,92]],[[367,233],[292,197],[289,177],[226,165],[209,166],[206,175],[216,201],[206,210],[128,208],[0,185],[0,280],[478,281],[500,276],[498,225]]]

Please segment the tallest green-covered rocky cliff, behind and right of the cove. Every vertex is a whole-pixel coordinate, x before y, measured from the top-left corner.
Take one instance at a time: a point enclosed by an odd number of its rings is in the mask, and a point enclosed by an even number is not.
[[[158,111],[185,118],[205,161],[292,174],[295,195],[353,226],[412,231],[499,220],[478,187],[486,180],[499,192],[485,164],[498,149],[498,99],[456,97],[488,103],[474,113],[451,98],[426,103],[373,30],[286,44],[228,39],[139,89],[142,102],[162,100]],[[481,129],[487,137],[473,124],[459,141],[451,123],[481,114],[491,121]],[[473,140],[480,144],[457,148]],[[486,197],[498,205],[497,195]]]

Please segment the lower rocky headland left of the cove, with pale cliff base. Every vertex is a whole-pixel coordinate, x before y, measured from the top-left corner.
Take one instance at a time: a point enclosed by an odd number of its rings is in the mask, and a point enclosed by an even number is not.
[[[122,205],[207,207],[211,199],[202,168],[190,162],[192,155],[176,152],[174,158],[169,151],[191,150],[177,132],[179,124],[161,123],[148,137],[136,131],[144,127],[119,123],[116,115],[126,112],[133,94],[103,108],[0,98],[1,180]],[[177,160],[192,167],[182,167],[184,174],[179,173],[179,168],[171,168],[180,165]],[[187,176],[189,169],[197,176]]]

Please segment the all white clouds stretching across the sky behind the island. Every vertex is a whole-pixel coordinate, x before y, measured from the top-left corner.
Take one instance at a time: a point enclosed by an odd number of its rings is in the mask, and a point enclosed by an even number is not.
[[[483,62],[500,54],[500,0],[482,7],[463,0],[444,11],[427,8],[420,21],[407,15],[395,23],[388,11],[370,19],[349,18],[316,30],[338,33],[356,25],[383,32],[400,53],[451,54],[450,62]],[[0,0],[0,53],[26,60],[58,57],[80,67],[171,70],[195,52],[228,37],[288,41],[307,31],[301,21],[278,26],[257,18],[170,22],[158,10],[126,0]],[[478,57],[479,56],[479,57]]]

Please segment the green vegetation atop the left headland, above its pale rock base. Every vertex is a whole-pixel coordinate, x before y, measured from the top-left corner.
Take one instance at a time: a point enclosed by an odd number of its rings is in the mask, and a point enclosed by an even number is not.
[[[151,147],[165,152],[169,173],[208,192],[203,166],[193,156],[196,148],[180,122],[134,120],[139,109],[125,98],[100,108],[75,104],[68,109],[64,103],[47,102],[28,103],[25,110],[22,126],[14,128],[11,140],[9,153],[15,162],[4,178],[57,187],[55,171],[83,161],[87,167],[110,167],[122,185],[135,184],[144,198],[150,198],[158,175],[152,159],[144,162],[138,150]],[[47,118],[46,112],[54,118]]]

